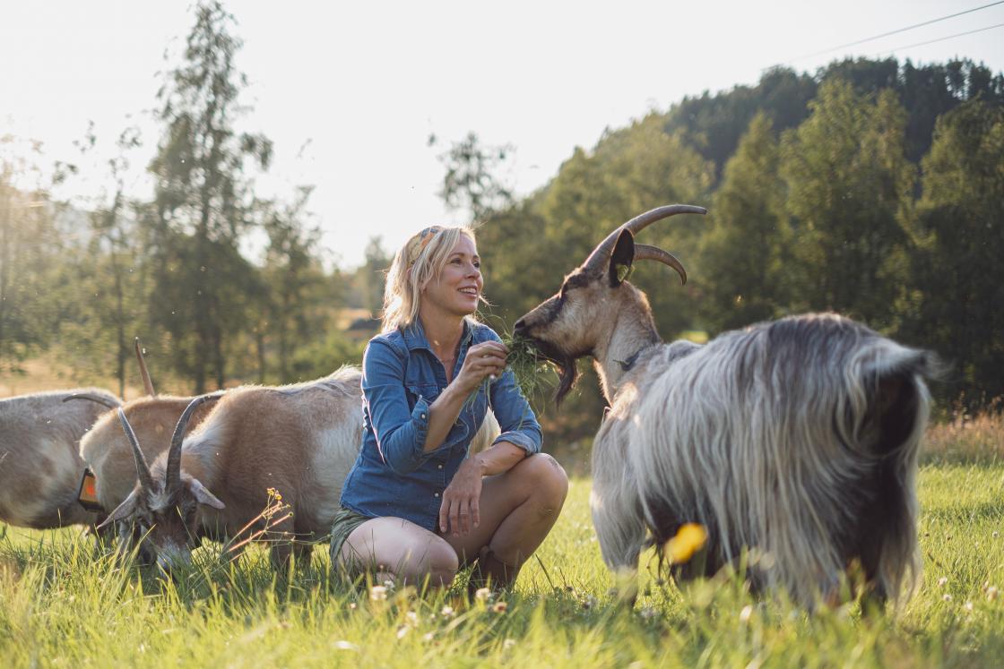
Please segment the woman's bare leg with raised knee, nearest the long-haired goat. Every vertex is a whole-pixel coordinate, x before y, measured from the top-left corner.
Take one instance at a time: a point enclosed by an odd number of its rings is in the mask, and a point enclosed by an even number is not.
[[[498,585],[510,585],[554,526],[567,493],[568,476],[557,460],[545,453],[530,455],[484,479],[477,528],[463,537],[447,533],[443,539],[465,565],[481,558],[508,567],[505,579],[499,578],[501,571],[492,576]],[[488,553],[482,554],[486,548]]]

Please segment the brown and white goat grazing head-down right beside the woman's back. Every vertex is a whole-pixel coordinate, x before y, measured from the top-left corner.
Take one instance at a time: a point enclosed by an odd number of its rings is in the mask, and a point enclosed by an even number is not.
[[[187,438],[194,411],[185,409],[167,452],[148,465],[130,421],[139,481],[105,524],[134,521],[165,569],[191,560],[201,536],[272,542],[272,559],[308,550],[330,531],[341,484],[358,454],[362,433],[360,374],[342,368],[316,381],[282,387],[234,388]],[[262,516],[275,490],[291,514]],[[250,527],[249,527],[250,526]],[[297,543],[300,542],[300,543]]]

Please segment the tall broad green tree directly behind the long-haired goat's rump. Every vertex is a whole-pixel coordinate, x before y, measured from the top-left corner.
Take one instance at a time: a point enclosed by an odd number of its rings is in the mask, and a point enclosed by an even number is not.
[[[781,144],[793,304],[893,327],[916,173],[904,154],[906,114],[893,91],[871,101],[838,79],[824,82],[809,106]]]

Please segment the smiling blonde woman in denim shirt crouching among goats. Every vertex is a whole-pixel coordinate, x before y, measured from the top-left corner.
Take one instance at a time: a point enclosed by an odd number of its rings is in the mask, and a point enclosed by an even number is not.
[[[472,231],[427,228],[387,278],[384,331],[362,359],[362,449],[331,532],[332,561],[378,578],[512,585],[557,520],[564,469],[506,369],[506,347],[472,315],[481,299]],[[491,408],[492,446],[468,447]]]

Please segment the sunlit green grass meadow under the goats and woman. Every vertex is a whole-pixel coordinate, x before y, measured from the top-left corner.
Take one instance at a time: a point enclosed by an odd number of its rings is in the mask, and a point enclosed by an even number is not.
[[[924,573],[899,612],[808,614],[742,579],[678,587],[644,556],[639,597],[603,567],[574,478],[554,532],[508,595],[371,588],[310,565],[272,571],[196,552],[175,581],[121,565],[79,530],[0,530],[0,664],[107,666],[912,667],[1004,662],[1004,441],[999,417],[937,425],[920,475]]]

